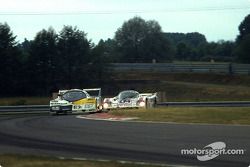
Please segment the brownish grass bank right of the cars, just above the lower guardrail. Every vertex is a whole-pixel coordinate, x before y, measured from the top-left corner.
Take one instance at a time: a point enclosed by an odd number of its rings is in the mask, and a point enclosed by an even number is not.
[[[200,84],[190,82],[162,82],[166,92],[164,101],[249,101],[250,87]]]

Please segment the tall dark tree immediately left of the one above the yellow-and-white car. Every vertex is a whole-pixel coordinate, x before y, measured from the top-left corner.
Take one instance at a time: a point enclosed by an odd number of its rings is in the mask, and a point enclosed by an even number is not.
[[[27,42],[26,42],[27,44]],[[47,95],[56,87],[58,70],[57,34],[53,28],[43,29],[30,46],[29,71],[33,92]]]

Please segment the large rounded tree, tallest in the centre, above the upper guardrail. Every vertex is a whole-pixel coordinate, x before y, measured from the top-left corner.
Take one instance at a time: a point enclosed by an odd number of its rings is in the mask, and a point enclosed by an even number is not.
[[[117,53],[122,62],[170,60],[168,40],[156,21],[134,17],[123,23],[115,33]]]

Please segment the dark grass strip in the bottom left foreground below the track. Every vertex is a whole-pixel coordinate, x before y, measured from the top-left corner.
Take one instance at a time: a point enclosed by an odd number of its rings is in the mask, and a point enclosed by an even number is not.
[[[154,167],[153,165],[122,164],[118,162],[60,160],[49,157],[0,155],[2,167]]]

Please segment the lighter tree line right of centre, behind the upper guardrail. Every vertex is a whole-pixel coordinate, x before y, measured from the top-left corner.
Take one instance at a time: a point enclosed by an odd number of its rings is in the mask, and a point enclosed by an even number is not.
[[[203,34],[164,33],[157,21],[134,17],[118,28],[113,39],[100,40],[110,62],[149,63],[218,61],[250,63],[250,15],[239,25],[235,41],[208,42]]]

